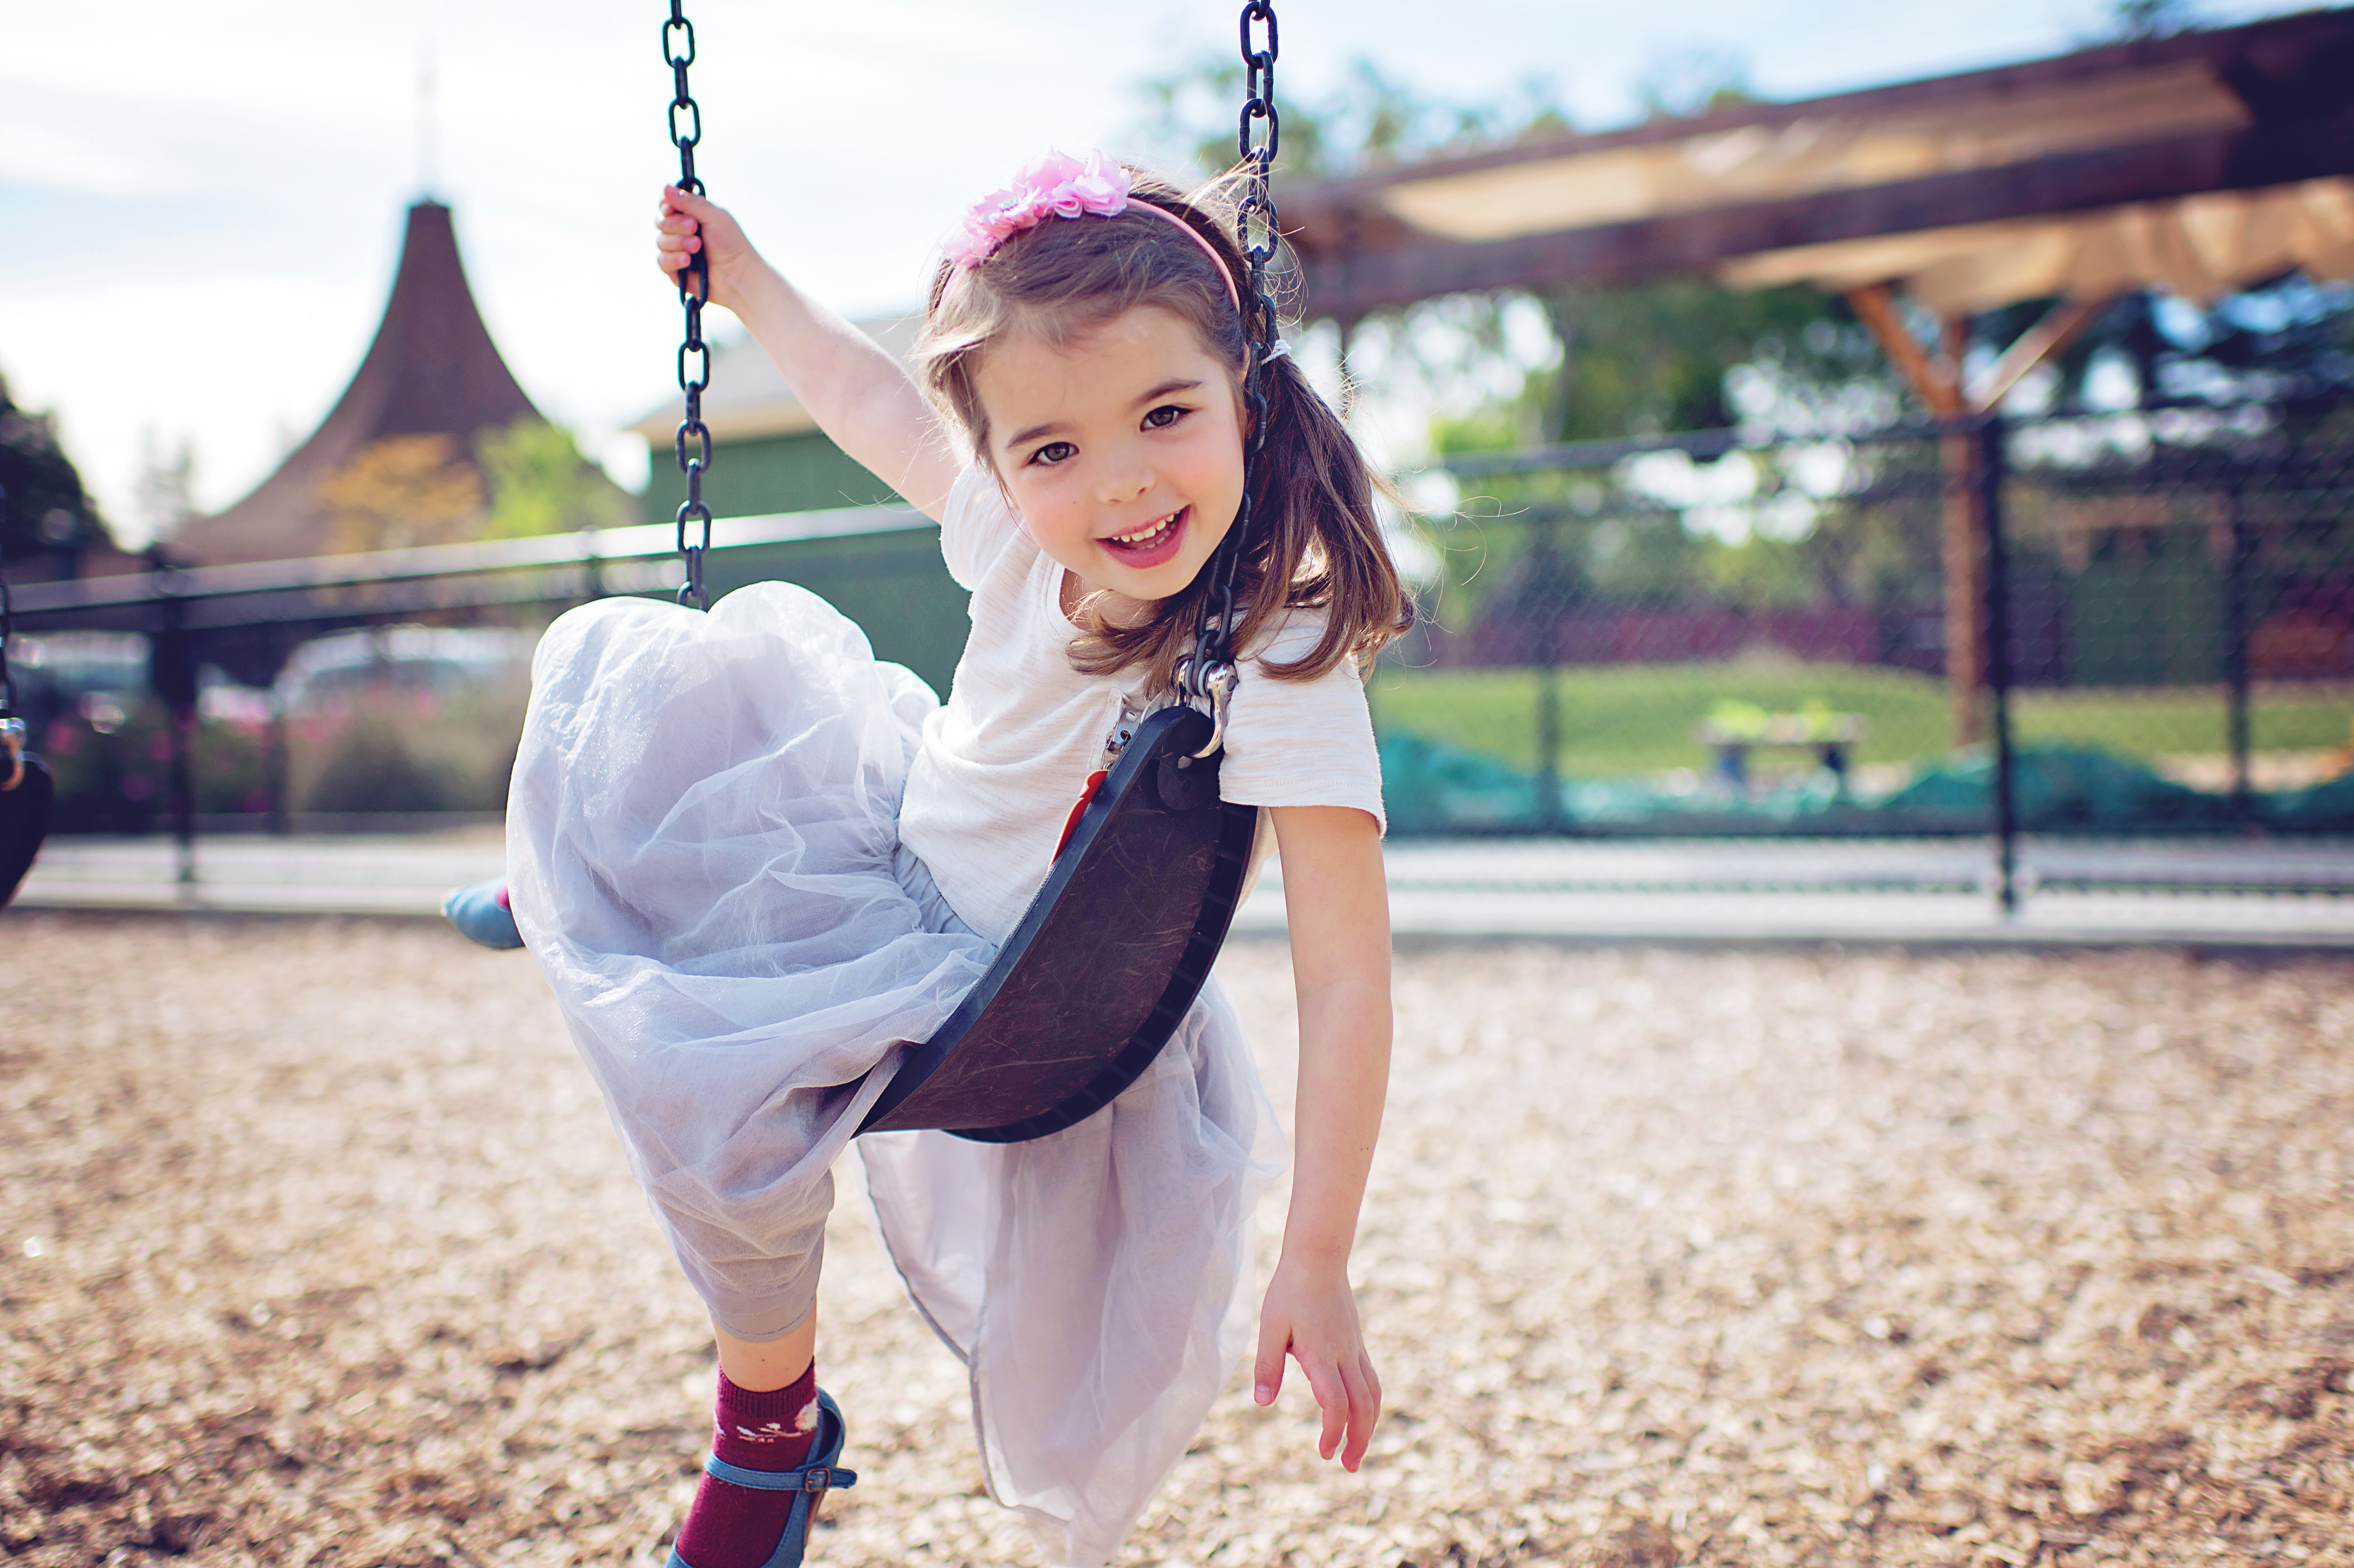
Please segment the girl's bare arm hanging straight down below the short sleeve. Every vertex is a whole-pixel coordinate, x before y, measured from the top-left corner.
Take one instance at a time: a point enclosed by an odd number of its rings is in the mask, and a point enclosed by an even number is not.
[[[1372,817],[1276,808],[1299,994],[1299,1165],[1283,1260],[1259,1309],[1252,1394],[1283,1389],[1285,1354],[1323,1410],[1316,1453],[1356,1469],[1382,1415],[1382,1380],[1349,1288],[1349,1248],[1389,1088],[1389,888]]]

